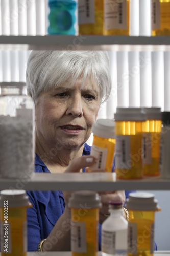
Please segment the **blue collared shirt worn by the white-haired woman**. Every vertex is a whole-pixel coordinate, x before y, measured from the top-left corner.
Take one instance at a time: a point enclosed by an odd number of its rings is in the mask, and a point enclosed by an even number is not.
[[[84,145],[83,155],[90,154],[91,147]],[[113,164],[114,170],[114,164]],[[83,169],[83,172],[85,168]],[[47,166],[36,154],[35,172],[50,173]],[[42,188],[43,190],[43,188]],[[131,191],[125,191],[126,198]],[[36,251],[38,243],[48,237],[56,222],[64,212],[65,200],[62,191],[27,191],[33,207],[27,209],[28,251]],[[99,250],[101,245],[101,225],[99,224]],[[155,244],[155,250],[157,250]]]

